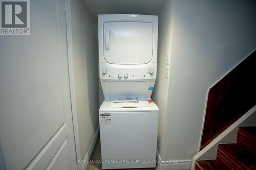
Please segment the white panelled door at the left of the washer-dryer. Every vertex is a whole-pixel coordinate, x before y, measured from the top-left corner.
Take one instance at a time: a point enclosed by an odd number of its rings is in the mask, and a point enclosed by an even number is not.
[[[65,23],[30,1],[30,36],[0,36],[0,169],[76,169]]]

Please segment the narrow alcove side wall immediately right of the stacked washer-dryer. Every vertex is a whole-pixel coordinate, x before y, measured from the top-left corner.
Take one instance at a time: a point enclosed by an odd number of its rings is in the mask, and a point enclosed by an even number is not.
[[[163,135],[165,130],[167,97],[169,80],[165,78],[164,68],[166,66],[167,53],[170,53],[172,34],[172,9],[173,1],[167,1],[158,14],[158,59],[157,79],[154,86],[152,99],[159,107],[158,126],[158,152],[161,155],[163,149]]]

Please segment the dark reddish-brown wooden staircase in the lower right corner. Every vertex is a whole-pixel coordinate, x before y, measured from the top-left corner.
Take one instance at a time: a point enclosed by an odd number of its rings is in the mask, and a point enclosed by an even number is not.
[[[237,143],[219,144],[215,160],[199,160],[196,170],[256,170],[256,127],[238,129]]]

